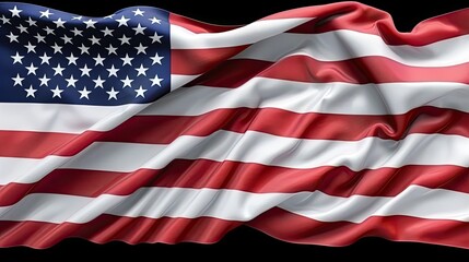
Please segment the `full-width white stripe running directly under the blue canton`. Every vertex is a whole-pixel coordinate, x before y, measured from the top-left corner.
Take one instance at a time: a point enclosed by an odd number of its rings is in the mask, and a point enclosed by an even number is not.
[[[198,116],[220,108],[238,107],[280,108],[295,112],[397,115],[422,106],[434,106],[469,112],[468,100],[469,86],[460,83],[359,85],[255,78],[237,88],[179,88],[150,106],[1,103],[0,130],[65,133],[108,131],[136,114]]]

